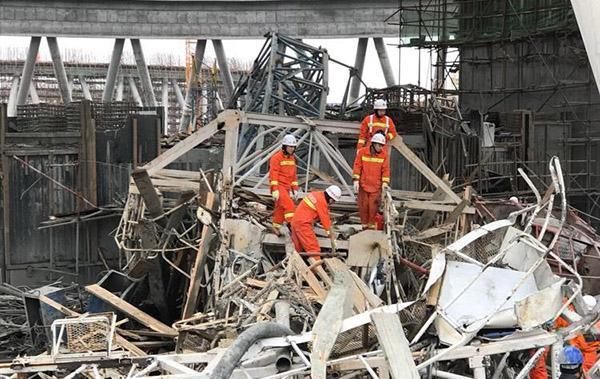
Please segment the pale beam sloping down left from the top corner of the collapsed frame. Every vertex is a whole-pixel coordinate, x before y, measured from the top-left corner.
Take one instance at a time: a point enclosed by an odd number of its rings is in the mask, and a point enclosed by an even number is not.
[[[216,119],[212,120],[204,127],[198,129],[196,132],[188,136],[183,141],[177,143],[175,146],[165,151],[158,157],[154,158],[151,162],[147,163],[144,166],[144,168],[148,171],[149,175],[153,175],[156,171],[165,168],[166,166],[177,160],[177,158],[181,157],[183,154],[187,153],[202,142],[211,138],[219,131],[219,125],[222,125],[222,123],[224,123],[226,119],[231,118],[236,119],[239,123],[239,111],[228,109],[220,113]]]

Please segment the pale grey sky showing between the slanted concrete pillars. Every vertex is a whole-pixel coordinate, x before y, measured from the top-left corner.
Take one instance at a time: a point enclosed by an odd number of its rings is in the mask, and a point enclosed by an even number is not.
[[[326,48],[330,56],[336,60],[344,62],[348,65],[354,64],[356,55],[357,39],[328,39],[328,40],[311,40],[307,39],[304,42],[313,46],[322,46]],[[223,45],[228,58],[237,58],[244,62],[252,62],[262,47],[264,40],[225,40]],[[402,65],[401,76],[398,81],[399,69],[399,49],[397,38],[386,38],[385,43],[388,45],[388,54],[394,68],[396,81],[402,84],[417,84],[419,78],[419,53],[416,49],[402,49]],[[114,44],[113,39],[107,38],[59,38],[58,44],[63,51],[63,60],[69,61],[70,57],[77,56],[80,59],[89,59],[93,62],[108,62]],[[27,47],[29,45],[28,37],[8,37],[0,36],[0,59],[14,59],[25,57]],[[181,65],[185,62],[185,41],[184,40],[166,40],[166,39],[145,39],[142,40],[142,47],[148,64],[162,63],[161,58],[170,56],[173,63]],[[125,44],[124,50],[125,59],[127,56],[132,56],[131,45]],[[214,51],[212,45],[207,45],[206,57],[208,61],[212,61]],[[42,41],[40,47],[39,59],[45,61],[50,60],[50,53],[46,41]],[[132,59],[132,58],[131,58]],[[421,52],[421,85],[430,87],[431,72],[430,72],[430,55],[426,50]],[[334,65],[330,70],[329,84],[329,102],[339,102],[342,99],[346,83],[348,80],[348,70],[346,68]],[[365,71],[363,80],[369,87],[381,88],[386,87],[381,66],[375,52],[373,41],[369,41],[367,48],[367,57],[365,60]]]

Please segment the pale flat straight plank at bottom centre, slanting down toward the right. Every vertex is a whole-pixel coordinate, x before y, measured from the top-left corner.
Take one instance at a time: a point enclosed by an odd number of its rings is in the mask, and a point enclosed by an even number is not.
[[[394,379],[420,379],[417,366],[408,347],[402,323],[397,314],[373,313],[371,320],[375,325],[377,339],[390,366]]]

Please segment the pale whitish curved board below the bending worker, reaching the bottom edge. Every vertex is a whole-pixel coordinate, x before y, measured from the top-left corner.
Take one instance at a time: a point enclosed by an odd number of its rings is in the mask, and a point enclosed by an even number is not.
[[[350,275],[340,272],[334,277],[334,285],[325,299],[312,329],[312,351],[310,353],[310,377],[325,379],[326,362],[342,330],[344,317],[350,313]]]

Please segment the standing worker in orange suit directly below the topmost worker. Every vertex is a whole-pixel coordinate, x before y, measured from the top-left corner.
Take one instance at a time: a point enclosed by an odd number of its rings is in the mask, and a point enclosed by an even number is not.
[[[358,213],[363,229],[375,229],[381,190],[390,183],[390,161],[384,149],[385,136],[375,133],[370,144],[358,150],[354,159],[352,179],[358,193]]]

